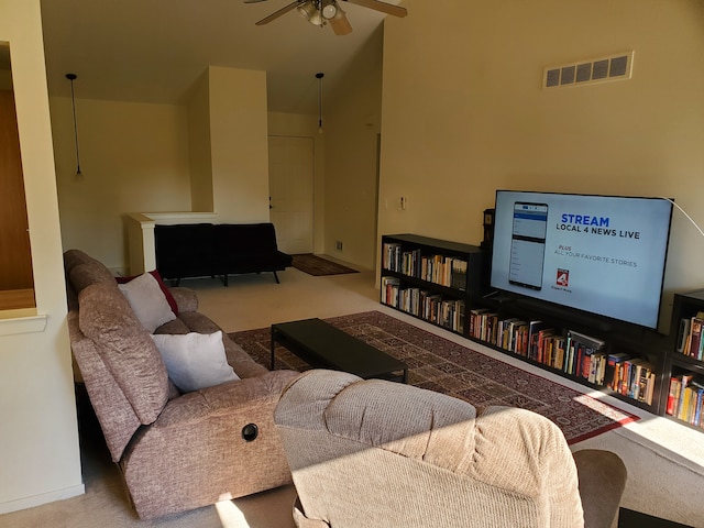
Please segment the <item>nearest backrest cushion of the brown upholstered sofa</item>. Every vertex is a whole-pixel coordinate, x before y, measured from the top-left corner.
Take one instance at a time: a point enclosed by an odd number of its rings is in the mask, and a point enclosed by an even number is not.
[[[140,421],[152,424],[166,405],[169,387],[154,341],[114,282],[86,287],[78,301],[80,331],[95,343]]]

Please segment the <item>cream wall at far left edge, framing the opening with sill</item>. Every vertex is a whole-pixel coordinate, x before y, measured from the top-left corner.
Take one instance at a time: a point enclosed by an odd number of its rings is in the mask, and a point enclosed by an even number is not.
[[[0,41],[12,57],[38,315],[0,319],[2,514],[84,486],[38,0],[0,0]]]

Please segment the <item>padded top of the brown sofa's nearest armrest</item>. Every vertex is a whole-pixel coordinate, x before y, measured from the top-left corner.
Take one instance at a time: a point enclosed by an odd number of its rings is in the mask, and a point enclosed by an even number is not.
[[[193,425],[220,415],[246,415],[268,406],[273,416],[282,391],[297,375],[295,371],[273,371],[185,394],[166,404],[152,428]]]

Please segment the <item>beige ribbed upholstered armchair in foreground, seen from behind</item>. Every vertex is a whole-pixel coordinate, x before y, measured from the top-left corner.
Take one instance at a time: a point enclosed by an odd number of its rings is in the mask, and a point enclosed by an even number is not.
[[[275,424],[299,527],[608,528],[626,481],[535,413],[340,372],[294,380]]]

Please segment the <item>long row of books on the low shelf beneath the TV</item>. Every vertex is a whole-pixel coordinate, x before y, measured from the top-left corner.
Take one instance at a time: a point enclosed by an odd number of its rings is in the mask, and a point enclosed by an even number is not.
[[[498,319],[486,308],[470,311],[470,336],[494,346],[652,405],[656,374],[640,358],[608,353],[601,339],[554,329],[540,320]]]

